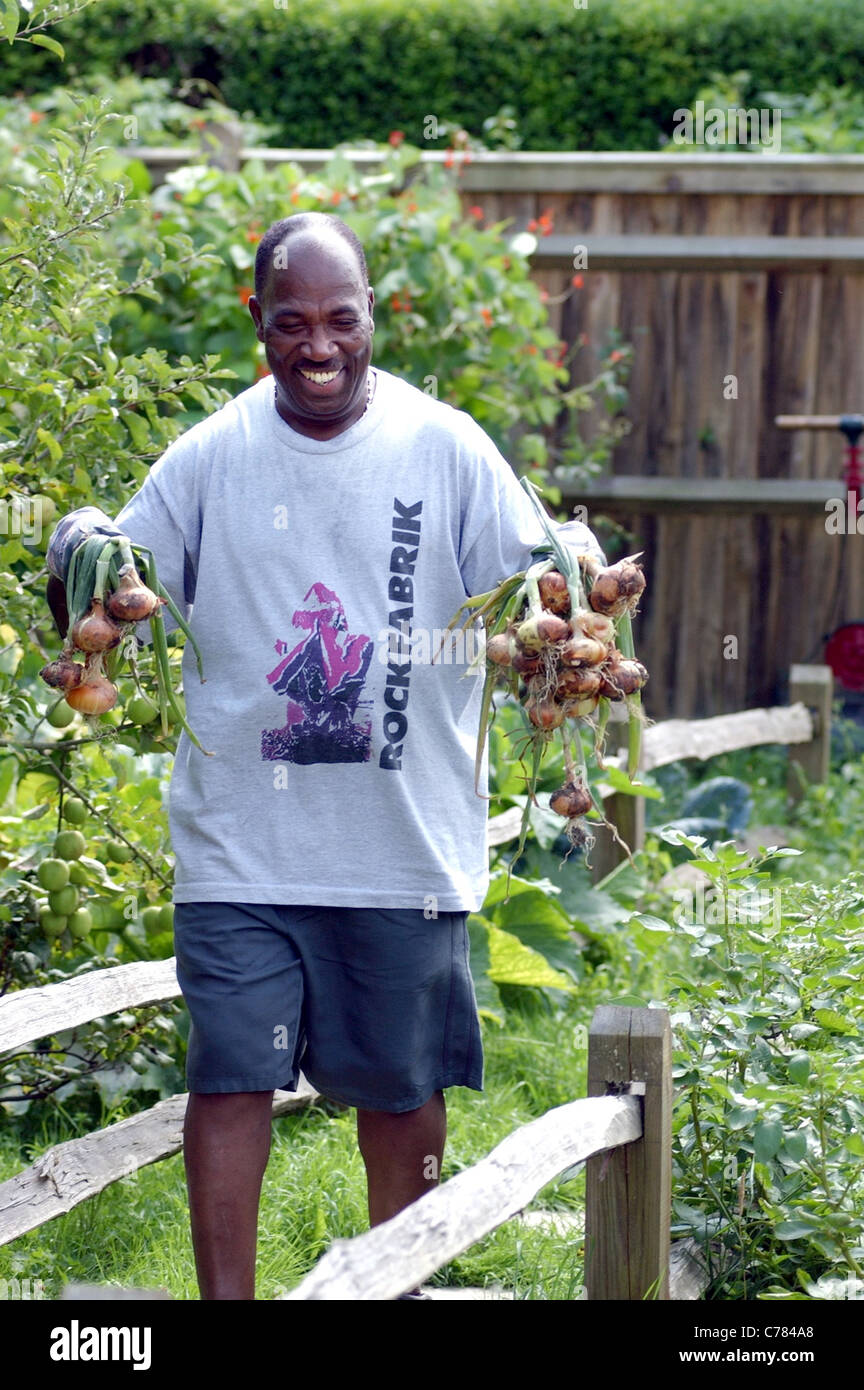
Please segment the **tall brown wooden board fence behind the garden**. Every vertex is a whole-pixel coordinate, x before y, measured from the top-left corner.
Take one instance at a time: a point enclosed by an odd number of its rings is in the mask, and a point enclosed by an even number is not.
[[[189,158],[135,153],[157,179]],[[314,170],[331,153],[243,150],[222,132],[215,157]],[[864,619],[864,539],[825,528],[825,502],[845,498],[840,436],[774,425],[864,410],[864,156],[479,153],[457,175],[488,222],[551,214],[532,265],[553,328],[583,343],[574,379],[596,374],[611,332],[633,346],[611,474],[563,491],[645,552],[653,717],[779,702],[792,662]]]

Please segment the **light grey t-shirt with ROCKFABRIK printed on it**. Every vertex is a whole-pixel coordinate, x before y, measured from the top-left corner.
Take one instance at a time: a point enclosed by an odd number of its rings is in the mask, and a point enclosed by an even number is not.
[[[183,689],[214,756],[181,737],[175,902],[483,902],[482,660],[470,671],[475,639],[431,657],[543,531],[468,414],[375,375],[329,441],[293,431],[264,378],[172,443],[115,518],[203,652],[204,684],[186,644]],[[601,556],[581,523],[560,531]]]

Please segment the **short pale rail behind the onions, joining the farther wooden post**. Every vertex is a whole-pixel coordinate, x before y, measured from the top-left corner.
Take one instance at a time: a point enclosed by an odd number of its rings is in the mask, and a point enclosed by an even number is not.
[[[745,709],[711,719],[670,719],[646,728],[642,738],[642,766],[664,767],[679,758],[715,758],[736,748],[760,744],[808,744],[813,720],[803,703],[772,709]]]

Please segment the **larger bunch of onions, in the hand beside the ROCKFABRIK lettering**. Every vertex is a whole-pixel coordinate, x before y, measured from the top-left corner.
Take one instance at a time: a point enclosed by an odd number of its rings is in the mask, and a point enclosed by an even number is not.
[[[525,748],[532,749],[529,795],[515,858],[522,851],[543,753],[560,738],[567,781],[550,796],[550,809],[567,821],[571,845],[590,842],[583,817],[593,810],[600,823],[601,803],[592,795],[581,730],[593,734],[600,762],[610,705],[624,701],[629,713],[628,771],[639,763],[643,714],[640,691],[647,671],[633,652],[631,619],[645,591],[638,555],[601,564],[593,555],[575,555],[550,528],[532,484],[522,478],[542,520],[546,555],[526,571],[504,580],[490,594],[468,599],[450,621],[463,628],[482,619],[486,628],[486,681],[475,759],[475,790],[493,714],[493,689],[506,682],[525,710]],[[574,753],[578,749],[578,756]],[[522,753],[524,756],[524,753]]]

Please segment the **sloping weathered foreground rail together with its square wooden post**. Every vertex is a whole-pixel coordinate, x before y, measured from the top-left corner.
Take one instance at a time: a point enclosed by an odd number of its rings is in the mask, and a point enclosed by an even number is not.
[[[285,1300],[396,1298],[586,1161],[588,1297],[668,1298],[672,1073],[665,1009],[600,1005],[589,1030],[588,1072],[588,1099],[547,1111],[389,1222],[335,1241]]]

